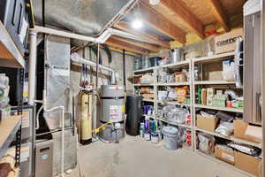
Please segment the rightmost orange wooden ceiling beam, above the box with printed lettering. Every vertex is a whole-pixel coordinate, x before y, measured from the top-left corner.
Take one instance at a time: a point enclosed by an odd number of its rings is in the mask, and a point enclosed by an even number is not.
[[[204,0],[211,7],[212,13],[215,15],[216,20],[222,25],[225,31],[229,31],[229,23],[226,13],[224,12],[223,5],[220,0]]]

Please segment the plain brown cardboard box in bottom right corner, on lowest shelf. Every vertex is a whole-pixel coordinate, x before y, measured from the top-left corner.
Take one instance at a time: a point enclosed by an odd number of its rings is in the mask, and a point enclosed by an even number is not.
[[[254,158],[253,156],[235,151],[235,166],[240,170],[257,176],[260,173],[260,163],[261,158]]]

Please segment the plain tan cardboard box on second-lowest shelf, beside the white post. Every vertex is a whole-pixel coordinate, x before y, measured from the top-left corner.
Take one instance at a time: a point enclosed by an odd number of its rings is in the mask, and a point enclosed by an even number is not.
[[[218,118],[211,119],[211,118],[205,118],[201,115],[197,115],[196,123],[197,127],[214,132],[216,130],[218,120],[219,120]]]

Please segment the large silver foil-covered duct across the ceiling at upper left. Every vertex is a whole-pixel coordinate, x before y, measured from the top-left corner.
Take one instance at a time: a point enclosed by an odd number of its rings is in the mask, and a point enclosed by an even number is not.
[[[101,35],[136,0],[33,0],[38,25],[79,35]]]

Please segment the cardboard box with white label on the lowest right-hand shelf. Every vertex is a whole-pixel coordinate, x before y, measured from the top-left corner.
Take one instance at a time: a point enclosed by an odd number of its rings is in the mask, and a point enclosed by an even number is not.
[[[215,157],[223,160],[224,162],[227,162],[229,164],[234,165],[235,164],[235,152],[223,150],[221,148],[218,148],[216,146],[215,148]]]

